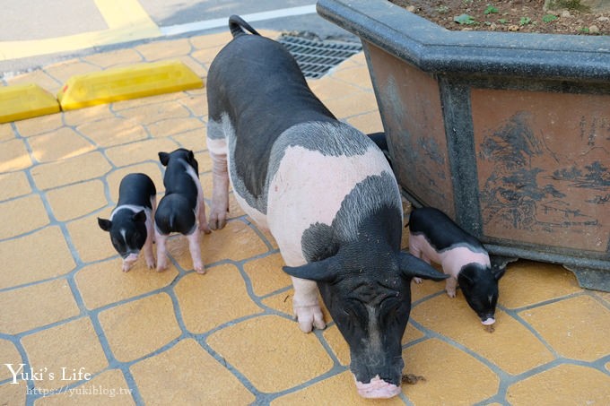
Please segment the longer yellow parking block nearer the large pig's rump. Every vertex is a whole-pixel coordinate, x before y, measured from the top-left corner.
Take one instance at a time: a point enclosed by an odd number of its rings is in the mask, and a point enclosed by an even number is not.
[[[57,92],[57,100],[63,110],[72,110],[203,86],[183,62],[161,61],[75,75]]]

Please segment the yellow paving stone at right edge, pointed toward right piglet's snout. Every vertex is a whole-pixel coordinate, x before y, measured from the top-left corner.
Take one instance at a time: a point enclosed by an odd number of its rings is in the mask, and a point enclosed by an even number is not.
[[[567,298],[518,315],[563,357],[594,361],[610,354],[610,310],[594,298]]]

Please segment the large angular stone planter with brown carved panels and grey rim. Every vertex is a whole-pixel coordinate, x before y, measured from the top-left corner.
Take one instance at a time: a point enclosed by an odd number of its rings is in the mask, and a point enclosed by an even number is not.
[[[319,0],[362,39],[396,177],[492,255],[610,290],[610,38],[449,31],[385,0]]]

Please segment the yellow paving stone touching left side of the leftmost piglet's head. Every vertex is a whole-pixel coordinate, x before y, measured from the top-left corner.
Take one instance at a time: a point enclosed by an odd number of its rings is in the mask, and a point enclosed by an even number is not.
[[[100,217],[108,219],[106,213]],[[100,229],[98,220],[93,216],[73,220],[66,224],[72,244],[83,262],[90,263],[118,255],[110,243],[107,232]],[[120,265],[118,265],[120,270]]]

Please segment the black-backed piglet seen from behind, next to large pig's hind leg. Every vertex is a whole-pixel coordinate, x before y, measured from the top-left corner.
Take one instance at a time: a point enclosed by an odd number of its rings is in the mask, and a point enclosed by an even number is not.
[[[163,177],[165,195],[154,215],[157,271],[168,267],[167,238],[171,233],[180,233],[187,236],[193,268],[196,272],[205,273],[199,246],[199,230],[205,234],[211,231],[205,220],[204,190],[199,181],[199,164],[193,151],[184,148],[173,152],[159,152],[159,160],[166,168]]]

